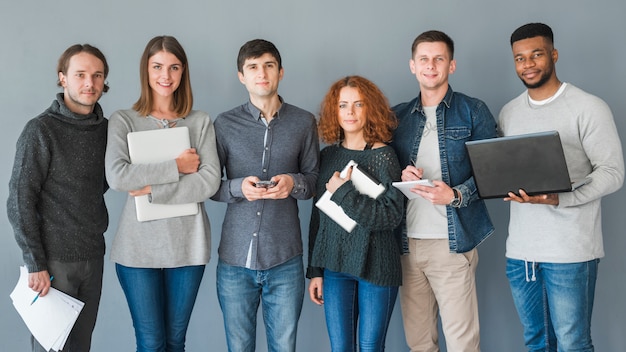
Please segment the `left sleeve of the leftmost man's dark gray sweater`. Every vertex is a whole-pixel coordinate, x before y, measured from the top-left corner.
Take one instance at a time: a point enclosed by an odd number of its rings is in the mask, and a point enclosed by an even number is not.
[[[37,120],[20,135],[9,182],[7,214],[29,272],[47,270],[37,206],[46,179],[50,152]]]

